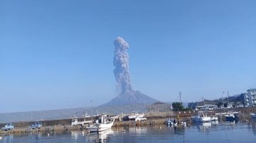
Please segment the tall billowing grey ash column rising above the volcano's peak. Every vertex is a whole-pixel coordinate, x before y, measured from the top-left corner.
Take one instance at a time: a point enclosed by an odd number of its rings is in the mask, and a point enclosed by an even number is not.
[[[114,77],[117,82],[117,91],[121,94],[132,92],[132,84],[129,75],[129,45],[123,38],[118,37],[114,40]]]

